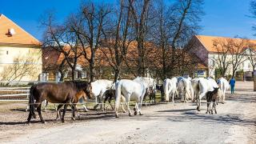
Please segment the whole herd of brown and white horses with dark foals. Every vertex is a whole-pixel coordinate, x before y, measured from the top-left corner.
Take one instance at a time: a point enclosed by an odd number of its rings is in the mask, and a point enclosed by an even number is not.
[[[114,106],[115,116],[118,118],[119,106],[122,106],[123,112],[126,112],[123,105],[126,106],[129,116],[132,115],[130,110],[130,100],[135,100],[134,115],[142,115],[142,103],[146,97],[150,98],[150,102],[154,99],[157,90],[160,90],[165,101],[174,102],[174,97],[181,98],[182,102],[191,100],[197,102],[197,110],[200,111],[201,99],[206,96],[207,111],[206,114],[213,114],[213,110],[217,114],[216,104],[225,102],[225,93],[229,88],[229,82],[225,78],[220,78],[216,82],[212,78],[183,78],[174,77],[166,78],[159,86],[154,78],[137,77],[133,80],[122,79],[118,82],[112,82],[106,79],[100,79],[95,82],[70,81],[62,83],[38,83],[30,88],[29,107],[30,113],[27,122],[30,123],[31,118],[36,118],[34,110],[38,111],[41,122],[45,123],[42,118],[41,106],[43,101],[55,103],[58,105],[57,117],[61,117],[62,122],[65,122],[64,117],[67,106],[71,107],[72,119],[75,120],[75,115],[78,114],[76,105],[79,100],[87,101],[87,98],[95,98],[97,104],[94,109],[100,106],[101,110],[105,110],[106,101],[111,102],[115,99]],[[104,99],[104,102],[102,102]],[[61,114],[61,108],[64,106]],[[84,106],[86,109],[86,106]],[[79,114],[78,114],[79,117]]]

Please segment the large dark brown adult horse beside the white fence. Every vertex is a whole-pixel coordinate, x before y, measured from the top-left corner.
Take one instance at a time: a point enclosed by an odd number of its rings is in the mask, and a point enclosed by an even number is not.
[[[73,119],[75,117],[76,103],[79,98],[92,97],[91,85],[89,82],[71,81],[62,83],[38,83],[30,87],[30,114],[27,118],[27,122],[30,123],[31,117],[36,118],[34,114],[35,108],[37,108],[38,115],[41,122],[45,123],[41,114],[41,104],[45,99],[51,103],[59,103],[57,109],[57,118],[60,113],[60,108],[64,105],[62,114],[62,122],[64,122],[64,116],[66,113],[66,107],[71,106],[73,110]],[[35,101],[35,102],[34,102]]]

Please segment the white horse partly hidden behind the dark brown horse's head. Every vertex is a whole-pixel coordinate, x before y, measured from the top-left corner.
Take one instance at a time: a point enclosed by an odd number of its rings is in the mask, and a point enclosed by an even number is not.
[[[95,82],[91,82],[93,98],[95,98],[96,102],[98,102],[94,106],[94,110],[96,110],[99,105],[101,106],[101,110],[104,110],[102,106],[102,100],[105,96],[106,90],[111,89],[113,85],[114,85],[114,82],[107,79],[99,79]],[[85,108],[85,110],[87,110],[85,106],[83,107]]]

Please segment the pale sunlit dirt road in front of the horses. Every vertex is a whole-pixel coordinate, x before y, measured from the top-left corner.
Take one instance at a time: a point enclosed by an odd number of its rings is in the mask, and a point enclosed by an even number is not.
[[[256,94],[248,86],[240,86],[235,95],[227,94],[226,104],[217,106],[218,114],[205,114],[206,103],[201,112],[195,107],[182,102],[159,104],[142,107],[142,116],[120,114],[120,118],[113,113],[82,113],[82,120],[76,122],[69,120],[68,113],[64,124],[1,122],[0,142],[256,143]],[[53,119],[54,115],[43,116]]]

